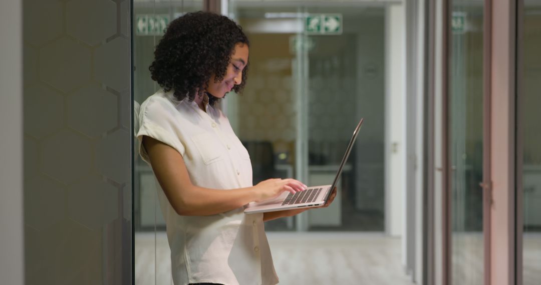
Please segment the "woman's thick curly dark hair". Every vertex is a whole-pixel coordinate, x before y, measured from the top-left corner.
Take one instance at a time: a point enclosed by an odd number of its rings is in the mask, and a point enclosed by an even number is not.
[[[236,44],[249,46],[248,37],[226,16],[209,12],[192,12],[172,21],[154,51],[151,77],[177,99],[190,101],[206,92],[212,74],[221,82]],[[233,90],[240,93],[246,83],[248,65],[242,70],[242,83]],[[208,94],[209,104],[218,98]]]

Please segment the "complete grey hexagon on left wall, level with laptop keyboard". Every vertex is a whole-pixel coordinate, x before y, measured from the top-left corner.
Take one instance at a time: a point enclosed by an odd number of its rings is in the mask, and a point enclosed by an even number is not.
[[[68,187],[68,213],[90,229],[118,218],[118,189],[101,177],[89,177]]]

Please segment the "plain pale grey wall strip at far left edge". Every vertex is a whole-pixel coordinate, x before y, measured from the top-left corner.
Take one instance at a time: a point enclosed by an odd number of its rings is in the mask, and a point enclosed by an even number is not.
[[[0,284],[24,284],[22,0],[0,2]]]

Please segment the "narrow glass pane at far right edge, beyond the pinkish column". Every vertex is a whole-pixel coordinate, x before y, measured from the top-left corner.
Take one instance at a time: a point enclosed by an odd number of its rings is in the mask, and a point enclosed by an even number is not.
[[[541,280],[541,130],[539,82],[541,82],[541,1],[525,1],[522,46],[522,94],[519,94],[522,138],[523,186],[523,284]]]

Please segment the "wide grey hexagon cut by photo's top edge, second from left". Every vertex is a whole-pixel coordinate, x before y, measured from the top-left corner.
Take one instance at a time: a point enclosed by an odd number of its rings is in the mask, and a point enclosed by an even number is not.
[[[96,45],[116,33],[116,4],[110,0],[71,0],[66,4],[68,35]]]

